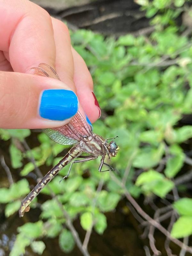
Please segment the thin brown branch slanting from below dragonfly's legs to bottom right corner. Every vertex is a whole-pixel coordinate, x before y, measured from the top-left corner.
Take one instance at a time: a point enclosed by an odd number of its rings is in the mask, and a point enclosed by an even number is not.
[[[124,189],[124,194],[127,198],[127,200],[133,205],[133,207],[136,209],[136,211],[143,217],[145,218],[151,225],[155,226],[159,231],[161,231],[165,236],[167,236],[173,243],[177,244],[181,248],[185,248],[187,252],[192,253],[192,247],[189,247],[186,244],[183,244],[180,240],[173,238],[170,234],[169,231],[167,231],[160,223],[158,223],[156,220],[151,218],[146,212],[143,211],[143,209],[137,204],[137,202],[134,200],[134,198],[130,195],[128,192],[127,188],[123,185],[123,183],[116,178],[116,176],[111,173],[111,177],[113,180],[116,181],[116,183]]]

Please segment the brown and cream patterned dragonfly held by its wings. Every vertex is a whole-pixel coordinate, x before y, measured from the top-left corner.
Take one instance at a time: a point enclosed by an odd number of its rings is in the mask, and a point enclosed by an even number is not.
[[[60,80],[55,70],[45,63],[40,63],[38,68],[31,68],[33,73],[38,76],[52,77]],[[103,139],[101,136],[92,132],[92,127],[87,124],[83,115],[77,111],[76,115],[72,120],[63,126],[56,128],[44,129],[44,133],[47,134],[52,140],[61,145],[73,145],[74,146],[68,151],[68,153],[56,164],[44,177],[43,179],[33,188],[33,190],[23,199],[19,210],[19,216],[23,217],[25,212],[30,210],[29,204],[39,194],[39,192],[48,184],[60,170],[67,164],[70,164],[68,173],[65,177],[69,176],[71,167],[75,163],[82,163],[90,161],[101,156],[99,172],[113,171],[114,169],[107,163],[104,162],[105,157],[115,157],[119,147],[116,142],[108,138]],[[108,143],[108,140],[112,140]],[[86,156],[81,156],[83,153],[87,153]],[[75,160],[76,158],[81,158]],[[103,165],[107,165],[109,170],[102,171]]]

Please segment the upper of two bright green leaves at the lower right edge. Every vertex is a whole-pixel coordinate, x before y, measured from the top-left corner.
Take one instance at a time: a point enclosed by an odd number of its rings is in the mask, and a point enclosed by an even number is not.
[[[173,208],[180,214],[192,216],[192,198],[181,198],[173,203]]]

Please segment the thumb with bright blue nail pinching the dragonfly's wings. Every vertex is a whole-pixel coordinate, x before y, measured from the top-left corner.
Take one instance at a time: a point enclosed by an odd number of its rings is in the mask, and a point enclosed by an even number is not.
[[[76,94],[61,81],[0,71],[0,128],[57,127],[77,110]]]

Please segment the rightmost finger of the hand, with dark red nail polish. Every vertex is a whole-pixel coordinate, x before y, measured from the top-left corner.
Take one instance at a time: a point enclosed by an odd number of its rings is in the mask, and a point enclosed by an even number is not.
[[[93,123],[100,118],[101,110],[97,98],[93,92],[93,80],[82,57],[72,48],[74,60],[74,82],[78,99]]]

